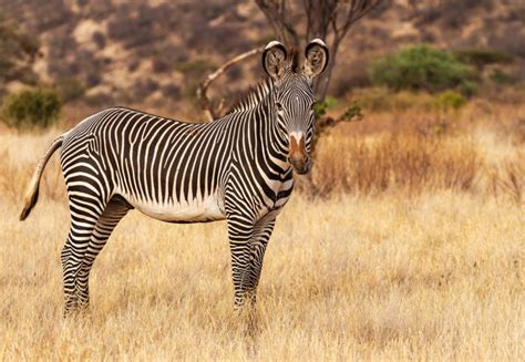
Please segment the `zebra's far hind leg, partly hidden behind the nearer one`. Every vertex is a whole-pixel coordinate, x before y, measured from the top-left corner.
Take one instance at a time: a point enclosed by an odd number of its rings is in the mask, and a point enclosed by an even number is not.
[[[96,221],[76,276],[76,296],[79,299],[79,307],[83,309],[87,308],[90,303],[89,278],[91,267],[93,266],[96,256],[110,238],[111,232],[128,210],[130,206],[127,203],[123,201],[120,197],[114,197],[110,200],[104,213]]]

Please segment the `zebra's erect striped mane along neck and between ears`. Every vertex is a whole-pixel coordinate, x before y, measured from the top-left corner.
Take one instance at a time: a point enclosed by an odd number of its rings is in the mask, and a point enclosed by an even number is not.
[[[295,48],[290,50],[287,68],[292,72],[299,72],[299,51]],[[269,77],[265,77],[256,86],[249,86],[248,91],[237,96],[237,101],[226,112],[226,114],[245,112],[253,110],[260,101],[262,101],[274,87],[274,82]]]

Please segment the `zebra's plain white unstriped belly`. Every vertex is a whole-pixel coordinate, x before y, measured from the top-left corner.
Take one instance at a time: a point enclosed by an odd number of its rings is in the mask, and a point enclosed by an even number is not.
[[[127,197],[126,199],[141,213],[167,223],[207,223],[226,218],[215,195],[203,199],[195,198],[188,201],[169,200],[162,204],[130,199]]]

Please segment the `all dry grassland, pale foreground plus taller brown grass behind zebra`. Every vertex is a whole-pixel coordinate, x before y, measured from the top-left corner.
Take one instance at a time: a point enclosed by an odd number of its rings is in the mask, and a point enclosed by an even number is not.
[[[415,103],[414,100],[408,103]],[[233,311],[225,223],[130,213],[101,252],[86,314],[62,319],[69,214],[61,131],[0,134],[0,359],[522,360],[525,107],[391,106],[325,136],[270,240],[256,328]]]

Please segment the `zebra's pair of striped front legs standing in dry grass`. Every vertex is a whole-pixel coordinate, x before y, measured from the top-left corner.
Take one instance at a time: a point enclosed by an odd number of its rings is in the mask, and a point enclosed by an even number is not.
[[[228,219],[236,309],[256,302],[262,259],[274,226],[275,217],[269,215],[250,227],[239,226],[235,218]]]

